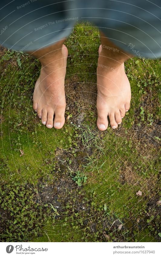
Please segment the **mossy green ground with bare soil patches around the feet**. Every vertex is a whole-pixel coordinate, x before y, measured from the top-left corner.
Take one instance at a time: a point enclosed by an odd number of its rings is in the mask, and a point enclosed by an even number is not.
[[[1,48],[0,240],[158,242],[161,60],[125,63],[130,110],[116,130],[101,132],[99,31],[77,24],[65,45],[69,119],[61,130],[32,110],[40,63]]]

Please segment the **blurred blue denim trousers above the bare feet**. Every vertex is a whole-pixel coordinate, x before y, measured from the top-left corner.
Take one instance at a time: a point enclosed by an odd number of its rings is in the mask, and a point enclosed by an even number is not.
[[[20,0],[0,3],[0,44],[33,51],[70,35],[77,21],[95,24],[116,46],[138,57],[161,57],[159,0]]]

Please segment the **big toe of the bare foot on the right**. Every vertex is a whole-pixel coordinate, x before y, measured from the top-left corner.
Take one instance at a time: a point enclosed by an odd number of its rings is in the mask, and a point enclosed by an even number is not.
[[[97,108],[97,127],[99,130],[103,131],[106,130],[108,127],[108,120],[107,120],[107,111],[104,109]]]

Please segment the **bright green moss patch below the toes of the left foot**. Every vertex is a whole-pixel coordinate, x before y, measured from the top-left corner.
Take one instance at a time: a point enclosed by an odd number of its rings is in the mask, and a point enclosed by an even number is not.
[[[34,118],[35,114],[32,115]],[[5,116],[8,117],[8,114],[5,113]],[[10,113],[9,120],[13,121],[13,118]],[[11,180],[27,180],[29,183],[37,183],[41,177],[45,179],[44,174],[48,177],[54,165],[54,163],[46,164],[45,159],[49,157],[50,153],[50,158],[53,160],[57,147],[68,148],[70,146],[68,133],[72,134],[73,128],[64,125],[67,132],[64,130],[49,130],[41,122],[35,120],[35,127],[31,131],[27,129],[28,124],[22,130],[20,128],[23,124],[18,126],[18,131],[15,131],[17,127],[15,129],[11,125],[8,127],[9,120],[2,124],[3,134],[0,154],[2,160],[5,157],[4,162],[8,166],[4,176],[9,176]],[[24,153],[21,157],[20,150]]]

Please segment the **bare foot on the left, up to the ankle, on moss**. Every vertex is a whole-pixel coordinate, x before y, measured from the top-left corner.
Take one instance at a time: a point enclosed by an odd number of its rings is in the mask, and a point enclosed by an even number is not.
[[[48,128],[54,126],[56,129],[62,128],[65,122],[64,78],[68,55],[65,45],[59,55],[59,59],[55,58],[48,66],[41,67],[33,95],[33,109],[37,111],[42,124]]]

